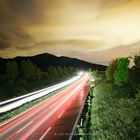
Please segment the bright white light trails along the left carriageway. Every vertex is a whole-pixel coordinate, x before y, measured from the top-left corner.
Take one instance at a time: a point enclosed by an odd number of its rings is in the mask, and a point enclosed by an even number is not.
[[[83,72],[80,72],[80,73],[78,73],[77,76],[75,76],[75,77],[73,77],[70,80],[67,80],[65,82],[62,82],[62,83],[59,83],[57,85],[54,85],[54,86],[51,86],[51,87],[48,87],[48,88],[45,88],[45,89],[42,89],[42,90],[38,90],[38,91],[23,95],[23,96],[20,96],[20,97],[17,97],[17,98],[13,98],[13,99],[10,99],[10,100],[7,100],[7,101],[0,102],[0,106],[1,106],[0,107],[0,113],[9,111],[9,110],[14,109],[14,108],[17,108],[17,107],[19,107],[19,106],[21,106],[21,105],[23,105],[27,102],[33,101],[35,99],[38,99],[40,97],[43,97],[43,96],[51,93],[51,92],[54,92],[58,89],[61,89],[65,86],[75,82],[82,75],[83,75]]]

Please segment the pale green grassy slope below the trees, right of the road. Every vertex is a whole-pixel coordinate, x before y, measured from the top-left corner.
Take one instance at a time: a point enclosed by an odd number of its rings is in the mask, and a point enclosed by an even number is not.
[[[83,140],[140,139],[140,90],[131,97],[130,86],[115,86],[105,80],[95,88],[79,133]]]

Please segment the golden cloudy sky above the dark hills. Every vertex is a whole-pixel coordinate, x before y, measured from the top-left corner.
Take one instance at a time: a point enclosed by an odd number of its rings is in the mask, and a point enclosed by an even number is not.
[[[0,57],[51,53],[107,64],[140,51],[140,0],[0,0]]]

